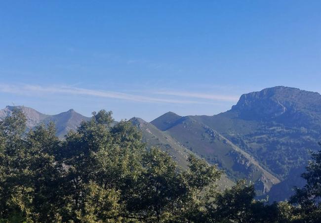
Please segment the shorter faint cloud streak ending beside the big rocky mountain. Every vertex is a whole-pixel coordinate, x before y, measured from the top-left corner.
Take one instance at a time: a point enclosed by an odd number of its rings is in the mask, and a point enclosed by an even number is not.
[[[197,93],[197,92],[184,92],[184,91],[157,91],[155,94],[162,95],[173,95],[173,96],[182,96],[182,97],[193,97],[193,98],[202,98],[209,100],[217,101],[238,101],[238,96],[233,95],[219,95],[219,94],[209,94],[209,93]]]

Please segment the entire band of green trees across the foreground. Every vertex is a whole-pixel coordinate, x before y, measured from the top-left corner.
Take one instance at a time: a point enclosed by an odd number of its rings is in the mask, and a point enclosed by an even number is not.
[[[319,215],[320,153],[292,198],[303,209],[256,201],[245,180],[218,191],[216,166],[191,155],[180,169],[166,152],[147,150],[130,122],[115,125],[111,112],[94,112],[64,140],[53,123],[25,129],[19,110],[0,122],[0,222],[286,223],[308,219],[307,210]]]

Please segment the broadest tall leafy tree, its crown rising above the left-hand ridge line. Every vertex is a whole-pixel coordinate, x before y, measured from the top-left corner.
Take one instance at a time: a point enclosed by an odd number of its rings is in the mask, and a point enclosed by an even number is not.
[[[113,215],[128,214],[127,201],[137,194],[135,185],[142,171],[145,146],[141,134],[128,121],[112,127],[111,114],[104,110],[93,113],[90,121],[82,122],[76,132],[71,131],[66,136],[61,157],[67,167],[64,194],[65,207],[69,208],[63,220],[77,222],[76,213],[90,214],[86,210],[92,196],[88,188],[100,191],[97,196],[117,193],[118,213],[113,212]]]

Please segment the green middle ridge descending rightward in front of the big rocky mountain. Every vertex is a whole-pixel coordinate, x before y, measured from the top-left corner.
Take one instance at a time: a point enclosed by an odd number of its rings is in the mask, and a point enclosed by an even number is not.
[[[177,117],[177,116],[176,116]],[[161,116],[157,123],[164,123]],[[158,126],[156,126],[158,127]],[[171,135],[189,150],[200,155],[209,163],[218,164],[231,178],[247,178],[255,182],[260,193],[266,193],[280,180],[262,168],[248,153],[233,144],[229,139],[217,133],[193,117],[182,117],[165,133]]]

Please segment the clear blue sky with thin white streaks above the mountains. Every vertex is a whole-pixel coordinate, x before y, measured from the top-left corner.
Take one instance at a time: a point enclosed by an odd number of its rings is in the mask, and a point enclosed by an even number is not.
[[[151,121],[273,86],[321,92],[320,12],[320,0],[3,0],[0,107]]]

